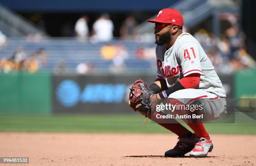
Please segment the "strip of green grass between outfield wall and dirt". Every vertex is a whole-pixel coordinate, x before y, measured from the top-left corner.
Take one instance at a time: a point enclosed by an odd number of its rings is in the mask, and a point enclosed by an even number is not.
[[[83,133],[171,133],[141,115],[0,115],[0,131]],[[205,124],[212,134],[256,134],[256,123]]]

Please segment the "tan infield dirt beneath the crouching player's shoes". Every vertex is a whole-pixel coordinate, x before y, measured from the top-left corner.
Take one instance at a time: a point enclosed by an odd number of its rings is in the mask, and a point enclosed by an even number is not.
[[[206,158],[165,158],[174,134],[0,133],[0,157],[29,157],[22,166],[256,165],[256,135],[211,137]]]

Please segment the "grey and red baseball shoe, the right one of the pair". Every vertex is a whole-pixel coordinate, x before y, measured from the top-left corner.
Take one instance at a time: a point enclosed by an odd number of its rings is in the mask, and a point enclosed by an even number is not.
[[[210,137],[210,135],[209,135]],[[195,147],[190,152],[190,157],[206,157],[208,152],[211,152],[213,148],[212,139],[198,138]]]

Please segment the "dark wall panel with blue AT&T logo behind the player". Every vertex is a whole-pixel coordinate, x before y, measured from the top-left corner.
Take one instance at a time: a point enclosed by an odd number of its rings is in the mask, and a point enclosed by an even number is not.
[[[53,76],[52,111],[59,113],[129,113],[129,87],[141,78],[148,83],[152,75],[59,75]],[[233,97],[233,76],[221,77],[229,97]]]

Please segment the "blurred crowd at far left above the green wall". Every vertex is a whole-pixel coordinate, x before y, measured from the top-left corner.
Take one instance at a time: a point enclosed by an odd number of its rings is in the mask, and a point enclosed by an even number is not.
[[[28,56],[23,47],[20,46],[10,59],[6,57],[0,59],[0,72],[26,71],[34,73],[45,65],[46,53],[44,49],[34,51]]]

